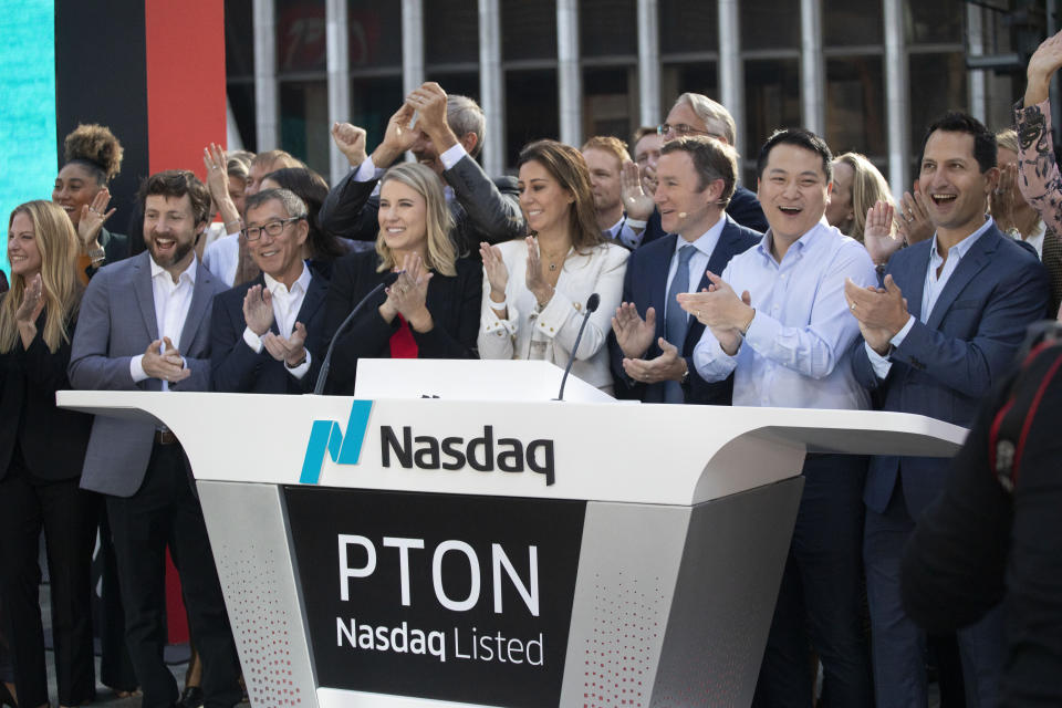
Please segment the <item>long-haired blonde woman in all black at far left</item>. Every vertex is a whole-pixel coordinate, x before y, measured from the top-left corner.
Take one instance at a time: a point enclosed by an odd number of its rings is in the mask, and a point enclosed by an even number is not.
[[[95,496],[79,488],[92,418],[55,406],[81,302],[80,243],[59,206],[29,201],[8,222],[11,290],[0,301],[0,604],[20,706],[48,706],[38,552],[51,577],[61,706],[95,695],[90,563]]]

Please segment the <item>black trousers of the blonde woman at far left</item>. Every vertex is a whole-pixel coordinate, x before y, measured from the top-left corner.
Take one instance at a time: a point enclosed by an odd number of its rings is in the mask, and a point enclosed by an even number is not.
[[[38,564],[42,530],[59,702],[80,706],[95,697],[90,568],[100,498],[77,482],[41,482],[18,452],[0,481],[0,604],[22,706],[49,701]]]

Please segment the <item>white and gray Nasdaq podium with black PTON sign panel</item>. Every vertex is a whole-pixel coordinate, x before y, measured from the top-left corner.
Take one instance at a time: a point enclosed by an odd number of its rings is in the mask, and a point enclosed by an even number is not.
[[[805,452],[943,457],[966,436],[894,413],[555,402],[549,364],[469,364],[374,363],[405,397],[58,400],[180,439],[256,707],[747,706]],[[479,399],[447,397],[468,376]]]

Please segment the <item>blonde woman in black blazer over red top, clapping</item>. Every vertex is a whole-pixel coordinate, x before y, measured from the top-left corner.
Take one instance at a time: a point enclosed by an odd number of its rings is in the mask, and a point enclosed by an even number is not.
[[[367,201],[375,184],[357,183],[355,199]],[[457,258],[454,219],[438,176],[425,165],[403,163],[384,173],[379,185],[376,249],[335,261],[325,341],[388,273],[399,275],[341,334],[331,393],[353,392],[361,357],[476,357],[482,272],[478,263]]]

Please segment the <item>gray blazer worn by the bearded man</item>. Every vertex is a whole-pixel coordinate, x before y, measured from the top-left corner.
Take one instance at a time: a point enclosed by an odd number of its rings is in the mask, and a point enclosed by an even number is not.
[[[150,254],[105,266],[88,283],[70,356],[74,388],[97,391],[160,391],[162,382],[133,382],[129,361],[158,339]],[[208,391],[210,385],[210,312],[214,295],[227,288],[198,264],[188,316],[177,348],[191,375],[171,391]],[[152,456],[155,425],[97,416],[92,425],[84,489],[115,497],[132,497],[140,488]]]

